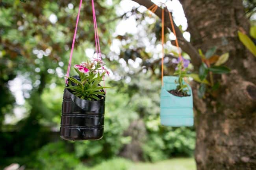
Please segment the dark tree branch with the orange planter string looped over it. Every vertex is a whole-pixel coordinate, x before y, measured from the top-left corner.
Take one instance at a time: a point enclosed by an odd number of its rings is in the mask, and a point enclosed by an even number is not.
[[[137,2],[140,5],[145,6],[146,8],[149,8],[154,3],[150,0],[133,0],[134,2]],[[171,22],[169,20],[169,15],[167,13],[168,9],[165,8],[165,26],[169,27],[171,30]],[[161,8],[158,8],[155,12],[155,14],[161,18]],[[195,49],[191,43],[187,42],[187,40],[183,37],[182,32],[180,29],[174,24],[174,29],[176,31],[177,38],[179,40],[180,47],[189,55],[191,58],[191,63],[194,65],[195,69],[198,69],[201,64],[200,55],[197,52],[197,49]]]

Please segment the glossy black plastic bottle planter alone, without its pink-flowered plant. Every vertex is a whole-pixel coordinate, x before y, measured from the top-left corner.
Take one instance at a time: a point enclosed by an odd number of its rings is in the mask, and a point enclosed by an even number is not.
[[[74,76],[76,79],[77,77]],[[104,133],[105,98],[87,101],[64,90],[60,136],[66,140],[98,140]]]

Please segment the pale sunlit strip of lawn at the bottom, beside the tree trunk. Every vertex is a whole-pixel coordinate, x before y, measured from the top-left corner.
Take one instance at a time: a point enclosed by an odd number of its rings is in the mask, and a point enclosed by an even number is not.
[[[174,158],[157,163],[134,163],[129,170],[196,170],[194,158]]]

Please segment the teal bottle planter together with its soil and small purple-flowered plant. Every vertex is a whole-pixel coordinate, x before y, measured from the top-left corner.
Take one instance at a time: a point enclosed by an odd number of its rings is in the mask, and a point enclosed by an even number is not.
[[[174,61],[178,64],[174,73],[177,77],[163,77],[160,119],[165,126],[193,126],[193,95],[191,87],[184,81],[189,60],[180,58]]]

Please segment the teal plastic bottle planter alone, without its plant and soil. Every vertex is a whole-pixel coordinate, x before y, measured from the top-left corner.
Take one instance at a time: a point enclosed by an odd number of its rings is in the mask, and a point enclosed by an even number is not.
[[[178,97],[169,93],[176,89],[178,77],[164,76],[161,89],[160,119],[165,126],[193,126],[193,95],[189,86],[187,97]]]

